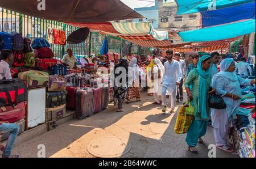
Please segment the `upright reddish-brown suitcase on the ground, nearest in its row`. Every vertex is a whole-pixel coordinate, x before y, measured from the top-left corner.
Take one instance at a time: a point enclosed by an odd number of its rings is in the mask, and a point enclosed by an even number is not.
[[[93,115],[94,104],[93,104],[93,91],[77,90],[76,92],[76,118],[84,119],[87,116]]]

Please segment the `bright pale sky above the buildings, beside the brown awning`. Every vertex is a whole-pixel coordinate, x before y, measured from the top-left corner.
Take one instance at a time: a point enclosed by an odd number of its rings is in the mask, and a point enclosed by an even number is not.
[[[137,7],[150,7],[155,6],[154,0],[121,0],[125,5],[129,6],[131,9],[137,8]],[[148,2],[150,1],[150,2]],[[174,0],[168,0],[168,2],[174,2]]]

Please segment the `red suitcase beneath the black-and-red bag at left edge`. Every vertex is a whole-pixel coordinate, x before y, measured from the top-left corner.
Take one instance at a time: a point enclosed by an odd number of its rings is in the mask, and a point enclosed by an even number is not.
[[[27,102],[20,102],[16,106],[2,106],[0,108],[0,121],[10,123],[20,121],[25,118]]]

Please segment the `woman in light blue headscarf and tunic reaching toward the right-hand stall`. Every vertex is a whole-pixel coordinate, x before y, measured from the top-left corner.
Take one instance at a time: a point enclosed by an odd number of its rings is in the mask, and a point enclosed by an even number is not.
[[[220,73],[214,75],[212,87],[216,88],[216,94],[221,95],[226,103],[225,109],[211,109],[212,126],[214,141],[217,148],[232,152],[232,147],[228,146],[226,138],[232,114],[236,112],[241,103],[241,88],[243,86],[251,86],[255,84],[255,79],[243,79],[234,73],[236,69],[233,58],[226,58],[221,61]],[[246,112],[244,110],[243,112]]]

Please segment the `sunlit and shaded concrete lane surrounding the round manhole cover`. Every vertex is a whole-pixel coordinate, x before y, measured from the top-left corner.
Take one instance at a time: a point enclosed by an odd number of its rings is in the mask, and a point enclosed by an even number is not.
[[[204,144],[197,145],[199,154],[191,154],[185,142],[186,134],[175,134],[177,112],[164,115],[162,107],[152,104],[154,96],[142,92],[142,102],[123,104],[125,112],[116,112],[114,105],[84,120],[73,119],[30,141],[14,147],[13,154],[20,157],[38,157],[40,144],[46,147],[46,157],[94,157],[86,147],[90,141],[116,136],[131,145],[122,157],[208,157],[208,145],[214,143],[213,129],[208,127]],[[175,108],[178,111],[180,104]],[[39,149],[38,149],[39,148]],[[39,153],[40,154],[40,153]],[[216,151],[217,157],[237,157]]]

